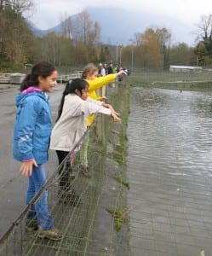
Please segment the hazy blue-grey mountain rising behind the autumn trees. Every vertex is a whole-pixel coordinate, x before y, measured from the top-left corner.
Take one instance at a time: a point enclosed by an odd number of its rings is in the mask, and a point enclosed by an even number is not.
[[[186,43],[192,45],[192,25],[186,25],[181,20],[164,15],[153,15],[146,12],[133,12],[121,8],[88,8],[91,20],[97,21],[101,28],[101,41],[105,44],[131,44],[135,32],[144,32],[149,27],[166,27],[172,34],[172,44]],[[71,16],[71,18],[76,15]],[[48,30],[40,30],[32,26],[36,36],[49,32],[60,33],[61,24]]]

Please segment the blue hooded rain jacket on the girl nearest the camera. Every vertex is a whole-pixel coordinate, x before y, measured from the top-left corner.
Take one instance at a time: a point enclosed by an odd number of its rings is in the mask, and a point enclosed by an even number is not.
[[[49,97],[42,91],[20,93],[16,97],[14,121],[14,159],[35,159],[44,164],[48,158],[52,130]]]

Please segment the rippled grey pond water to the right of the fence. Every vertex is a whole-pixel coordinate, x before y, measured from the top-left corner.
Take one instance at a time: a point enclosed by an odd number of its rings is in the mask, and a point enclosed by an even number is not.
[[[132,89],[128,138],[132,255],[211,255],[212,93]]]

